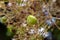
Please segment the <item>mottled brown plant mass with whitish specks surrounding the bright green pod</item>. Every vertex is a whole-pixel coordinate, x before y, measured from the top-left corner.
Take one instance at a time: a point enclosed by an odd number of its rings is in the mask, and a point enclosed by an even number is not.
[[[12,40],[43,40],[45,38],[53,40],[52,33],[48,30],[54,30],[54,28],[60,30],[59,7],[60,0],[0,1],[0,22],[7,27],[13,25],[14,29],[9,29],[15,33]],[[36,24],[27,23],[29,15],[36,17]],[[28,22],[32,23],[35,19],[29,20]]]

